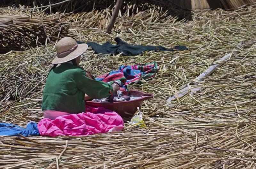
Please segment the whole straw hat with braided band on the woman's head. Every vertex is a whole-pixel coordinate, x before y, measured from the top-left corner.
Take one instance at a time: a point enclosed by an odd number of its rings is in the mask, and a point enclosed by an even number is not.
[[[77,44],[73,38],[64,37],[56,44],[55,48],[57,52],[52,64],[59,64],[79,57],[87,50],[88,45],[86,43]]]

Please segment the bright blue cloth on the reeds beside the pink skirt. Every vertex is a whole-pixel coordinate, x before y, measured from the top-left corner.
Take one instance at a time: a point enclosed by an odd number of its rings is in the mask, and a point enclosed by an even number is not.
[[[26,129],[14,124],[0,123],[0,135],[19,136],[19,134],[25,137],[40,135],[35,122],[29,122]]]

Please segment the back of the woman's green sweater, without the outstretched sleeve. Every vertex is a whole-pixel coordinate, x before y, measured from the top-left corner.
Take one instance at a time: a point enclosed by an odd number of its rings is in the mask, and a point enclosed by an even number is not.
[[[77,87],[80,71],[79,66],[64,63],[49,73],[44,87],[43,111],[80,113],[85,110],[84,92]]]

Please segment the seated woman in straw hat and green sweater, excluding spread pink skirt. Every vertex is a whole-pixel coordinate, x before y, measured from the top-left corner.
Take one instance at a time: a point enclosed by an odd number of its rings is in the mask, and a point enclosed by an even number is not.
[[[96,81],[92,75],[79,66],[81,54],[87,44],[77,44],[73,38],[62,38],[56,44],[57,56],[53,59],[43,93],[42,111],[44,117],[85,112],[85,98],[100,99],[111,96],[119,90],[116,83],[110,85]],[[58,64],[61,64],[57,67]]]

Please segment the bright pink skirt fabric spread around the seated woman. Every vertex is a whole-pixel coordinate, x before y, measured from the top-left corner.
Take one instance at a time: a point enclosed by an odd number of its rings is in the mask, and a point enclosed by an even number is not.
[[[82,136],[120,131],[124,121],[115,111],[86,106],[86,112],[59,116],[54,120],[44,118],[38,125],[42,136]]]

